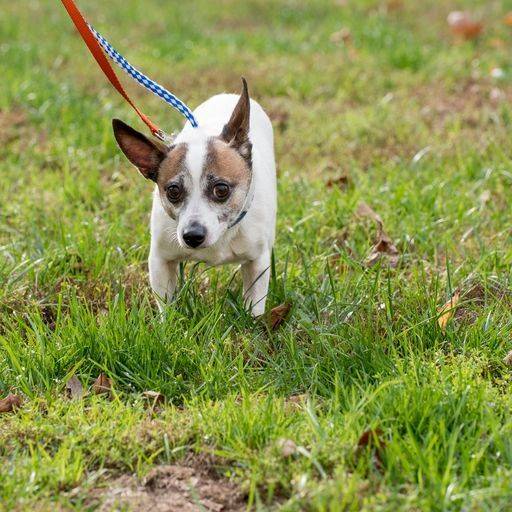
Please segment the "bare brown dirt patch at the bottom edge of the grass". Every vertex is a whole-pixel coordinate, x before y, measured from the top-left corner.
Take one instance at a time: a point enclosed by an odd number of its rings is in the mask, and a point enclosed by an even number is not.
[[[123,475],[92,492],[98,510],[233,512],[246,508],[243,493],[206,467],[158,466],[142,480]]]

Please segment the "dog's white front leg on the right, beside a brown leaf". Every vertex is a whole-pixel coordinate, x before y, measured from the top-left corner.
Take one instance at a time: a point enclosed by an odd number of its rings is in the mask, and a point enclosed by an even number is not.
[[[244,301],[253,316],[260,316],[265,312],[269,279],[270,252],[265,252],[255,260],[242,265]]]

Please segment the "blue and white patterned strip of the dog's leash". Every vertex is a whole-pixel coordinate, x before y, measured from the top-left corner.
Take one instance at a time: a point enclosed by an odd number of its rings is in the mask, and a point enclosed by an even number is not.
[[[138,69],[134,68],[94,27],[92,27],[89,23],[87,23],[87,25],[89,25],[91,32],[93,33],[98,43],[100,43],[105,53],[125,73],[127,73],[135,81],[142,85],[142,87],[146,88],[148,91],[151,91],[160,99],[168,103],[171,107],[175,108],[182,116],[188,119],[194,128],[199,126],[197,124],[196,118],[194,117],[194,114],[192,114],[192,111],[187,107],[187,105],[185,105],[185,103],[183,103],[183,101],[169,92],[165,87],[157,84],[155,81],[151,80],[151,78],[148,78]]]

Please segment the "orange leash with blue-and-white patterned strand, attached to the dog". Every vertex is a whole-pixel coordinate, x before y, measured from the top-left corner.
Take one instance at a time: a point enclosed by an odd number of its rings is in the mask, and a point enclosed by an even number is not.
[[[112,86],[117,92],[131,105],[133,110],[140,117],[142,122],[149,128],[151,133],[158,139],[167,142],[170,137],[162,129],[160,129],[151,119],[146,116],[133,102],[128,93],[125,91],[121,82],[117,78],[117,75],[110,65],[110,62],[105,57],[105,54],[114,61],[123,71],[125,71],[131,78],[137,83],[142,85],[148,91],[158,96],[160,99],[168,103],[171,107],[175,108],[182,116],[184,116],[190,124],[197,128],[198,124],[192,111],[174,94],[169,92],[165,87],[162,87],[158,83],[154,82],[146,75],[141,73],[139,70],[134,68],[119,52],[117,52],[111,44],[89,23],[86,21],[74,0],[61,0],[62,4],[66,8],[66,11],[73,21],[79,34],[82,36],[84,43],[91,52],[92,56],[98,63],[99,67],[108,78]]]

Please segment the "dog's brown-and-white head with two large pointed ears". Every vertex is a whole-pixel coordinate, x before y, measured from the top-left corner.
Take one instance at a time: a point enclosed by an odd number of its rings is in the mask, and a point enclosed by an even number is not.
[[[244,207],[252,180],[247,83],[217,137],[198,136],[166,146],[114,119],[119,147],[142,175],[154,181],[167,214],[177,221],[183,247],[215,244]]]

